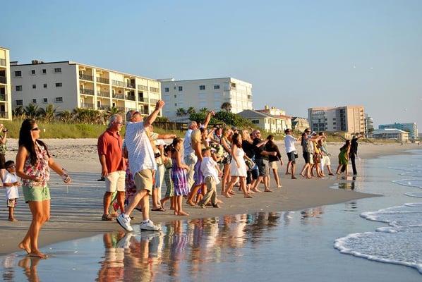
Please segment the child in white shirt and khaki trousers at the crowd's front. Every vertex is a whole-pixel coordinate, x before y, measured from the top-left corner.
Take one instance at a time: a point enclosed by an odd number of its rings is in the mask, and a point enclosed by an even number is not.
[[[219,167],[214,159],[211,157],[211,149],[207,147],[203,149],[203,161],[200,164],[200,170],[203,173],[205,184],[207,185],[207,194],[200,200],[199,206],[205,208],[207,203],[211,200],[212,207],[219,207],[217,204],[217,184],[219,183],[218,176],[221,174]]]

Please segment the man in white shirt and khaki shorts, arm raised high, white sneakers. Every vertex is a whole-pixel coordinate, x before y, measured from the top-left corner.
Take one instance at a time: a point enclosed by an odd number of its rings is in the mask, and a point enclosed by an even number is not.
[[[147,128],[155,121],[159,111],[164,106],[164,101],[159,100],[155,104],[155,110],[150,116],[142,121],[138,111],[128,111],[126,114],[126,148],[128,150],[129,168],[135,180],[136,194],[126,208],[126,212],[117,217],[117,222],[126,231],[133,231],[131,226],[131,212],[141,202],[143,205],[143,221],[140,223],[141,230],[159,231],[159,227],[150,221],[150,199],[152,194],[152,173],[157,169],[154,149],[148,136]]]

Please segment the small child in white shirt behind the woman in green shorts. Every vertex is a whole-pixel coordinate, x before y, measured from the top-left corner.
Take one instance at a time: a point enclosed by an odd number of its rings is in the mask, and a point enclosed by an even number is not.
[[[18,204],[18,187],[20,186],[18,178],[16,177],[16,166],[13,161],[6,161],[4,166],[6,166],[7,171],[4,176],[3,185],[6,187],[8,221],[17,221],[13,216],[13,209],[15,209],[16,204]]]

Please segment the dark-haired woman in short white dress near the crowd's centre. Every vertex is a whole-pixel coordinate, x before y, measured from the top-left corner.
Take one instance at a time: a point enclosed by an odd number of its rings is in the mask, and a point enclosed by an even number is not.
[[[224,196],[228,198],[231,197],[233,186],[239,178],[243,196],[251,198],[252,196],[249,195],[246,190],[246,173],[248,167],[246,166],[245,158],[248,159],[248,157],[246,157],[245,152],[243,152],[242,149],[242,137],[239,133],[234,133],[231,140],[231,156],[233,158],[230,164],[231,179],[227,185],[227,190],[224,192]]]

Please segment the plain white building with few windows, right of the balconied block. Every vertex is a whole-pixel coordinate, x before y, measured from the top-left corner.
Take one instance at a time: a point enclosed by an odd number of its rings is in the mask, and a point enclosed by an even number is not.
[[[224,102],[231,111],[239,113],[252,109],[252,85],[236,78],[207,78],[199,80],[162,79],[161,92],[166,106],[163,115],[175,118],[176,111],[193,107],[219,111]]]

